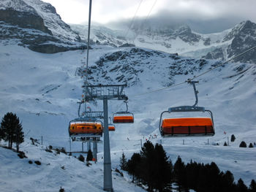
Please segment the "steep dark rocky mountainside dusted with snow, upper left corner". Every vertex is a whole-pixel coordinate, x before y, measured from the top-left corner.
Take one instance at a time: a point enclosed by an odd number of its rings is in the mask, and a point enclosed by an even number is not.
[[[0,2],[0,39],[15,41],[41,53],[76,50],[80,37],[61,20],[56,9],[40,0]]]

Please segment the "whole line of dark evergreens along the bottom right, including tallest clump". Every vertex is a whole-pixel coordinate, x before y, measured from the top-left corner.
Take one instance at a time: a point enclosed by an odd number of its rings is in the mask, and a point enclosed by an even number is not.
[[[147,185],[148,191],[172,191],[177,186],[178,191],[188,192],[256,192],[255,180],[249,188],[239,179],[235,183],[230,171],[221,172],[214,162],[201,164],[190,161],[184,164],[178,156],[173,165],[166,155],[162,145],[145,142],[140,153],[133,153],[127,161],[124,153],[120,158],[121,169],[132,175],[132,182]]]

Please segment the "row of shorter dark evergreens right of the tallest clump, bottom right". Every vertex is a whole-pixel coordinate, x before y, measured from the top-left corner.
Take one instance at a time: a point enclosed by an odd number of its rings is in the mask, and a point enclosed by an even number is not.
[[[238,183],[235,183],[233,174],[230,171],[221,172],[214,162],[198,164],[191,161],[185,165],[180,157],[178,157],[173,167],[173,182],[178,184],[178,191],[189,191],[189,189],[202,192],[255,191],[255,187],[248,189],[241,179],[238,180]],[[251,185],[255,185],[255,180],[252,180]]]

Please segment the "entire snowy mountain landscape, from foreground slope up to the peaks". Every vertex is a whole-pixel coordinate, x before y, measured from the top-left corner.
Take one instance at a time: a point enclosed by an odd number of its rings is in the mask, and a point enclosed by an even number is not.
[[[78,50],[82,46],[80,37],[61,21],[54,7],[42,1],[3,0],[0,7],[0,115],[18,115],[26,137],[20,150],[28,155],[28,159],[20,159],[0,147],[1,189],[58,191],[62,186],[65,191],[103,191],[103,141],[98,145],[99,161],[90,167],[74,157],[44,150],[48,145],[81,150],[81,142],[69,145],[68,134],[69,121],[78,117],[78,101],[83,94],[86,53]],[[72,28],[82,30],[81,37],[86,38],[83,26]],[[123,31],[92,27],[95,44],[89,51],[89,83],[127,82],[129,86],[124,91],[129,97],[129,111],[135,115],[135,123],[116,125],[116,131],[110,133],[112,169],[118,167],[121,153],[129,158],[140,151],[140,142],[149,139],[154,144],[162,143],[173,162],[178,155],[185,163],[214,161],[222,171],[230,170],[235,180],[241,177],[249,185],[256,178],[256,147],[238,146],[241,141],[247,145],[256,142],[256,66],[246,63],[254,61],[254,52],[238,58],[244,63],[225,64],[196,79],[198,106],[214,114],[214,137],[162,138],[158,126],[161,112],[168,107],[195,103],[191,85],[166,86],[185,82],[220,64],[200,58],[202,55],[212,53],[212,58],[225,59],[237,54],[238,47],[251,47],[254,28],[255,24],[247,21],[232,30],[205,35],[193,32],[189,26],[148,28],[140,33],[134,28],[125,39]],[[127,42],[138,47],[119,47]],[[61,50],[68,51],[54,53]],[[102,101],[88,106],[101,111]],[[110,117],[124,109],[122,101],[108,101]],[[207,116],[195,113],[166,117]],[[232,134],[235,142],[230,142]],[[30,137],[41,139],[42,147],[30,145]],[[230,146],[223,146],[225,142]],[[42,165],[29,164],[29,160],[42,161]],[[143,191],[129,183],[129,177],[112,174],[115,191]]]

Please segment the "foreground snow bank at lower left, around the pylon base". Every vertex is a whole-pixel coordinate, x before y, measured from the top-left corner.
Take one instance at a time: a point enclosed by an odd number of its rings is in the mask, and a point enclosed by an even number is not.
[[[102,161],[91,166],[78,158],[45,151],[44,146],[31,145],[29,140],[21,146],[28,158],[20,159],[17,153],[0,147],[1,191],[103,191]],[[84,154],[83,154],[84,155]],[[32,164],[29,164],[32,161]],[[34,161],[40,161],[37,165]],[[144,191],[113,172],[115,191]]]

